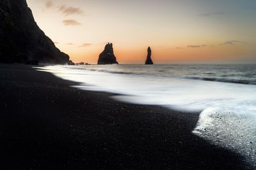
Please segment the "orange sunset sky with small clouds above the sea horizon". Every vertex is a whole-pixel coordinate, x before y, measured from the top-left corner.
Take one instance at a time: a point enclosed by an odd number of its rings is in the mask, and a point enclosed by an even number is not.
[[[256,63],[255,0],[27,0],[36,23],[74,62]]]

